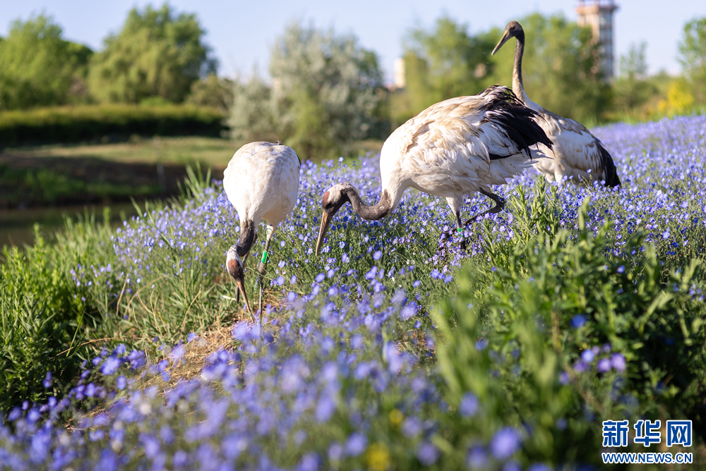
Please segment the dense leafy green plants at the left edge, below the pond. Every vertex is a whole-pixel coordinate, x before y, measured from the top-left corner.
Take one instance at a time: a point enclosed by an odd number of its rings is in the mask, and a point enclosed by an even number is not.
[[[19,400],[60,395],[102,337],[104,289],[76,281],[76,267],[105,267],[114,257],[110,226],[92,219],[71,223],[48,245],[35,226],[35,244],[5,247],[0,264],[0,409]],[[97,287],[96,287],[97,288]],[[102,300],[103,302],[105,300]],[[52,372],[49,387],[43,380]]]

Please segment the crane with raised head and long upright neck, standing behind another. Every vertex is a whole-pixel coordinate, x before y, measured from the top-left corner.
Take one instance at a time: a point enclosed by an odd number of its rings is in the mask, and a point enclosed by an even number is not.
[[[525,30],[517,21],[510,21],[505,27],[505,34],[493,49],[493,55],[511,37],[515,44],[515,66],[513,67],[513,92],[528,108],[537,111],[542,119],[537,120],[546,135],[551,139],[554,159],[541,159],[534,163],[534,168],[542,172],[550,182],[561,183],[565,176],[573,176],[580,181],[604,181],[606,187],[620,186],[620,178],[611,154],[603,147],[598,137],[591,134],[585,126],[573,119],[557,116],[547,111],[527,97],[522,84],[522,54],[525,52]],[[544,152],[546,149],[539,147]],[[549,155],[549,154],[548,154]]]

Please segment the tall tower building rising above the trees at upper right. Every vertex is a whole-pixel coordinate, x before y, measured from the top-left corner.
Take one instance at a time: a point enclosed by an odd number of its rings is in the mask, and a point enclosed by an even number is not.
[[[578,25],[590,26],[594,39],[600,44],[600,67],[608,82],[613,78],[613,12],[617,9],[618,6],[613,0],[592,2],[580,0],[576,7]]]

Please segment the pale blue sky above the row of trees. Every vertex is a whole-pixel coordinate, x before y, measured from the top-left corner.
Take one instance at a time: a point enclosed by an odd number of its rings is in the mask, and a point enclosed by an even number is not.
[[[150,3],[161,4],[143,0],[1,0],[0,35],[7,34],[12,20],[26,20],[32,13],[44,11],[64,28],[66,39],[100,49],[102,39],[119,30],[130,8]],[[364,47],[378,53],[385,75],[391,80],[393,61],[402,54],[402,38],[410,27],[429,27],[444,13],[467,23],[471,32],[504,27],[508,21],[535,11],[561,12],[575,20],[578,1],[172,0],[170,4],[177,11],[198,15],[207,30],[205,40],[213,47],[223,75],[249,74],[256,63],[258,70],[265,73],[275,38],[287,23],[304,20],[356,35]],[[618,55],[625,53],[630,44],[644,40],[650,73],[661,69],[678,73],[677,44],[683,25],[692,18],[706,16],[706,1],[616,0],[616,4],[619,9],[614,14],[614,32]]]

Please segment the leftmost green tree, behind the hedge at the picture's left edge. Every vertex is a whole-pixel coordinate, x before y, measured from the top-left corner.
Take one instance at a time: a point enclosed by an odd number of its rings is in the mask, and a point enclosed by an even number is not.
[[[0,109],[76,102],[85,95],[92,51],[61,38],[61,26],[39,15],[13,21],[0,41]]]

